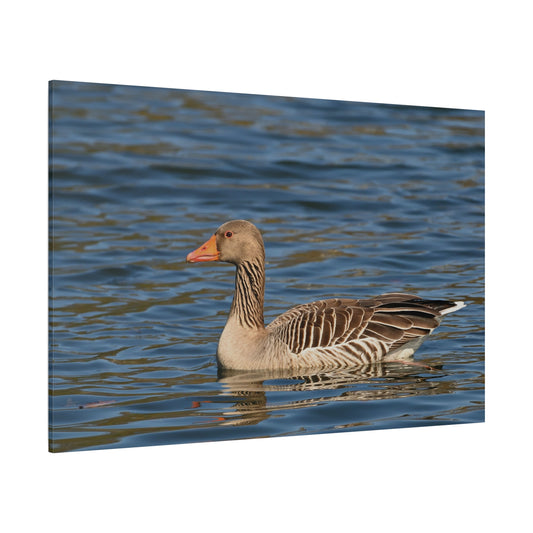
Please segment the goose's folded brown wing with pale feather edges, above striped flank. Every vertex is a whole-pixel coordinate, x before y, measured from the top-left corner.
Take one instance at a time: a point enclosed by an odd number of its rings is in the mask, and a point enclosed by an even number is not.
[[[290,309],[268,329],[295,354],[368,338],[382,341],[390,351],[431,333],[440,322],[441,312],[454,305],[401,293],[368,300],[319,300]]]

